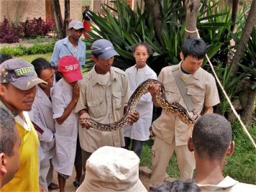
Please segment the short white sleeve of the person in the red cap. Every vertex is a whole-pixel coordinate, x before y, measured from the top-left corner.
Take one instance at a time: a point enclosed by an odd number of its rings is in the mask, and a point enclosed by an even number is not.
[[[59,93],[58,93],[59,92]],[[52,111],[53,118],[59,118],[63,115],[65,108],[67,108],[67,104],[65,104],[65,100],[61,97],[60,90],[56,90],[55,88],[52,90]]]

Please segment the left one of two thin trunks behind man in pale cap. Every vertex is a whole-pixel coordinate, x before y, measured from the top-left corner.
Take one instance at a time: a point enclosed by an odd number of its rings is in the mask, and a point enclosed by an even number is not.
[[[58,38],[63,38],[63,23],[59,0],[52,0],[52,10],[54,14],[54,21],[56,24]]]

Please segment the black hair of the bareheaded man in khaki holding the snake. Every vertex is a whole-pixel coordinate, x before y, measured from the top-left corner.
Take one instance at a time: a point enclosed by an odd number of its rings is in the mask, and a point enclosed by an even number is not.
[[[187,56],[202,60],[206,53],[206,44],[201,38],[189,38],[182,44],[181,52],[184,60]]]

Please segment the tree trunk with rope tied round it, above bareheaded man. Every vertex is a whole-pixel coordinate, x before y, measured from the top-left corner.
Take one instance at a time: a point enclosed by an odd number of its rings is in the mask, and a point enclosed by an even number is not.
[[[200,6],[200,0],[186,0],[185,5],[186,5],[185,40],[190,37],[197,38],[196,22],[197,22],[197,13]]]

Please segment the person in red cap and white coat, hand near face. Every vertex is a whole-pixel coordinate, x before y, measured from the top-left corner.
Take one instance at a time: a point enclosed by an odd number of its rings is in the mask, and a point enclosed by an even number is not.
[[[77,115],[74,113],[79,98],[82,79],[79,61],[74,56],[63,56],[58,61],[58,71],[62,78],[52,90],[52,110],[56,129],[55,155],[52,164],[58,172],[60,191],[65,191],[65,182],[72,174],[77,145]]]

